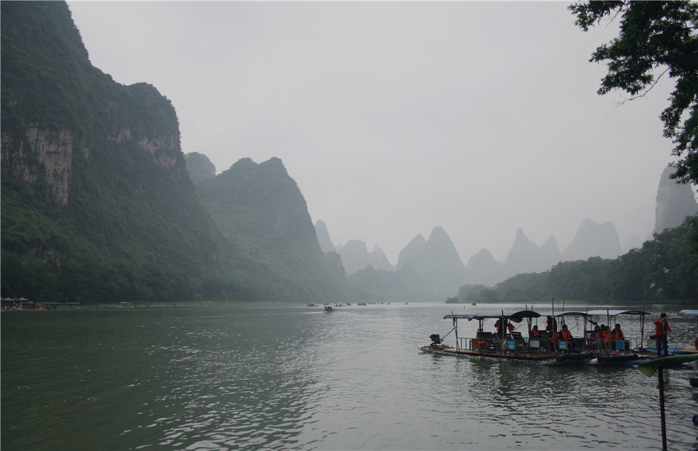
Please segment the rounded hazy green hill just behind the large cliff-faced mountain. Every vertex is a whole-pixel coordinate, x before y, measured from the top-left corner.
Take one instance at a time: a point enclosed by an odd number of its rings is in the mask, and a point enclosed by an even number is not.
[[[306,201],[279,158],[243,158],[200,180],[196,192],[223,236],[268,268],[275,297],[350,298],[339,255],[320,250]]]

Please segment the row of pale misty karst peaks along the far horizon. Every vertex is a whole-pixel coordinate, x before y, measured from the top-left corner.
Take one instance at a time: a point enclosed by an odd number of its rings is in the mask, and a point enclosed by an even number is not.
[[[662,173],[657,195],[655,231],[667,227],[677,227],[688,215],[695,215],[698,203],[688,185],[677,185],[669,178],[671,167]],[[325,223],[315,225],[318,237],[322,236],[327,249],[334,249]],[[642,240],[633,237],[626,243],[626,250],[641,247]],[[560,261],[586,260],[589,257],[616,259],[623,254],[616,227],[611,222],[598,224],[585,218],[574,239],[560,252],[557,240],[551,236],[538,246],[526,237],[522,229],[517,229],[507,260],[496,261],[491,252],[482,249],[463,265],[458,252],[441,227],[433,229],[429,240],[417,234],[399,254],[393,268],[385,259],[385,254],[377,245],[371,252],[366,244],[351,240],[339,247],[339,254],[347,275],[355,275],[371,266],[372,270],[394,270],[397,273],[410,273],[417,277],[420,286],[427,293],[452,293],[452,286],[462,284],[493,285],[521,273],[538,273],[549,270]],[[375,276],[374,276],[375,277]]]

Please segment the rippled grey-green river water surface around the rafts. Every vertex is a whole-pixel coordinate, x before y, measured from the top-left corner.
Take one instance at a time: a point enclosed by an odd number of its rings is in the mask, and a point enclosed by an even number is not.
[[[660,447],[656,378],[636,369],[417,351],[450,330],[452,308],[3,313],[1,448]],[[695,320],[671,326],[672,340],[695,338]],[[670,448],[695,446],[696,375],[665,377]]]

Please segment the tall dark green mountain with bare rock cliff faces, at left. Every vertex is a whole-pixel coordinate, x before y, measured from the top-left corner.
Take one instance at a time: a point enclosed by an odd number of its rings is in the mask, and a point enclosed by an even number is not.
[[[223,237],[171,102],[91,66],[66,3],[3,1],[1,15],[2,296],[306,300]]]

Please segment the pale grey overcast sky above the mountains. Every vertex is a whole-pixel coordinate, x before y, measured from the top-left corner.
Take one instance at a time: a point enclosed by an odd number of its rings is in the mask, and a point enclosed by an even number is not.
[[[654,228],[673,84],[598,96],[616,26],[569,3],[68,4],[94,66],[172,101],[184,153],[281,158],[335,245],[395,264],[440,226],[505,261],[518,228],[560,250],[585,217],[621,245]]]

